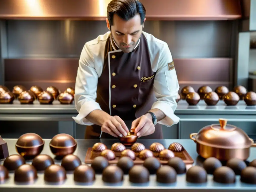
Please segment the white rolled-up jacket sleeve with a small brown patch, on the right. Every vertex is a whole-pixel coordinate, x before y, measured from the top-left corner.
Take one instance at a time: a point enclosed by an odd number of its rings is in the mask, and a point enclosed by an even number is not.
[[[168,65],[170,66],[168,67]],[[177,124],[180,120],[174,114],[177,108],[176,99],[178,97],[179,83],[173,65],[172,54],[168,45],[165,44],[159,55],[158,68],[154,79],[153,88],[157,101],[153,104],[152,109],[159,109],[166,115],[158,123],[167,127]]]

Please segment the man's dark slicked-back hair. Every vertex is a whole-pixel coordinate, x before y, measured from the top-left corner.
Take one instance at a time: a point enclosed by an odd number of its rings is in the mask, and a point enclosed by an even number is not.
[[[114,14],[125,21],[132,19],[136,14],[140,14],[141,24],[146,17],[146,9],[138,0],[113,0],[109,3],[107,10],[110,27],[113,25]]]

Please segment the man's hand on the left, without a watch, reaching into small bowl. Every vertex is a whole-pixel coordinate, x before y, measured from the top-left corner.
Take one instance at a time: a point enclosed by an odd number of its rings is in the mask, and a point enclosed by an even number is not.
[[[101,131],[113,137],[127,136],[127,133],[130,133],[128,127],[119,116],[111,116],[106,120],[101,127]]]

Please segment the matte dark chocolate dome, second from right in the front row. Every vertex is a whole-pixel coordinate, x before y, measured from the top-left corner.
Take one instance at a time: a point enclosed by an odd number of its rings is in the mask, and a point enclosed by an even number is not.
[[[235,183],[236,182],[236,174],[235,172],[226,166],[222,166],[217,168],[213,173],[213,180],[217,183]]]

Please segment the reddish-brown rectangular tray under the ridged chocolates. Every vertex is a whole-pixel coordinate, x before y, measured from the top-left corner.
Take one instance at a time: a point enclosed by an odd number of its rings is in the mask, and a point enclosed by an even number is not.
[[[100,154],[101,154],[101,152],[93,152],[92,153],[92,147],[88,148],[86,156],[85,156],[85,163],[91,164],[93,159],[95,157],[100,156]],[[194,160],[192,159],[192,157],[190,157],[190,155],[188,154],[188,152],[186,150],[184,150],[183,152],[175,152],[174,154],[175,154],[175,157],[181,158],[186,165],[194,164]],[[109,164],[117,164],[118,163],[121,153],[115,153],[115,155],[116,155],[116,158],[112,161],[109,161]],[[159,161],[163,165],[166,165],[168,162],[168,161],[161,161],[160,159],[159,159]],[[135,165],[139,165],[139,164],[143,164],[143,163],[144,163],[144,161],[138,157],[134,160]]]

